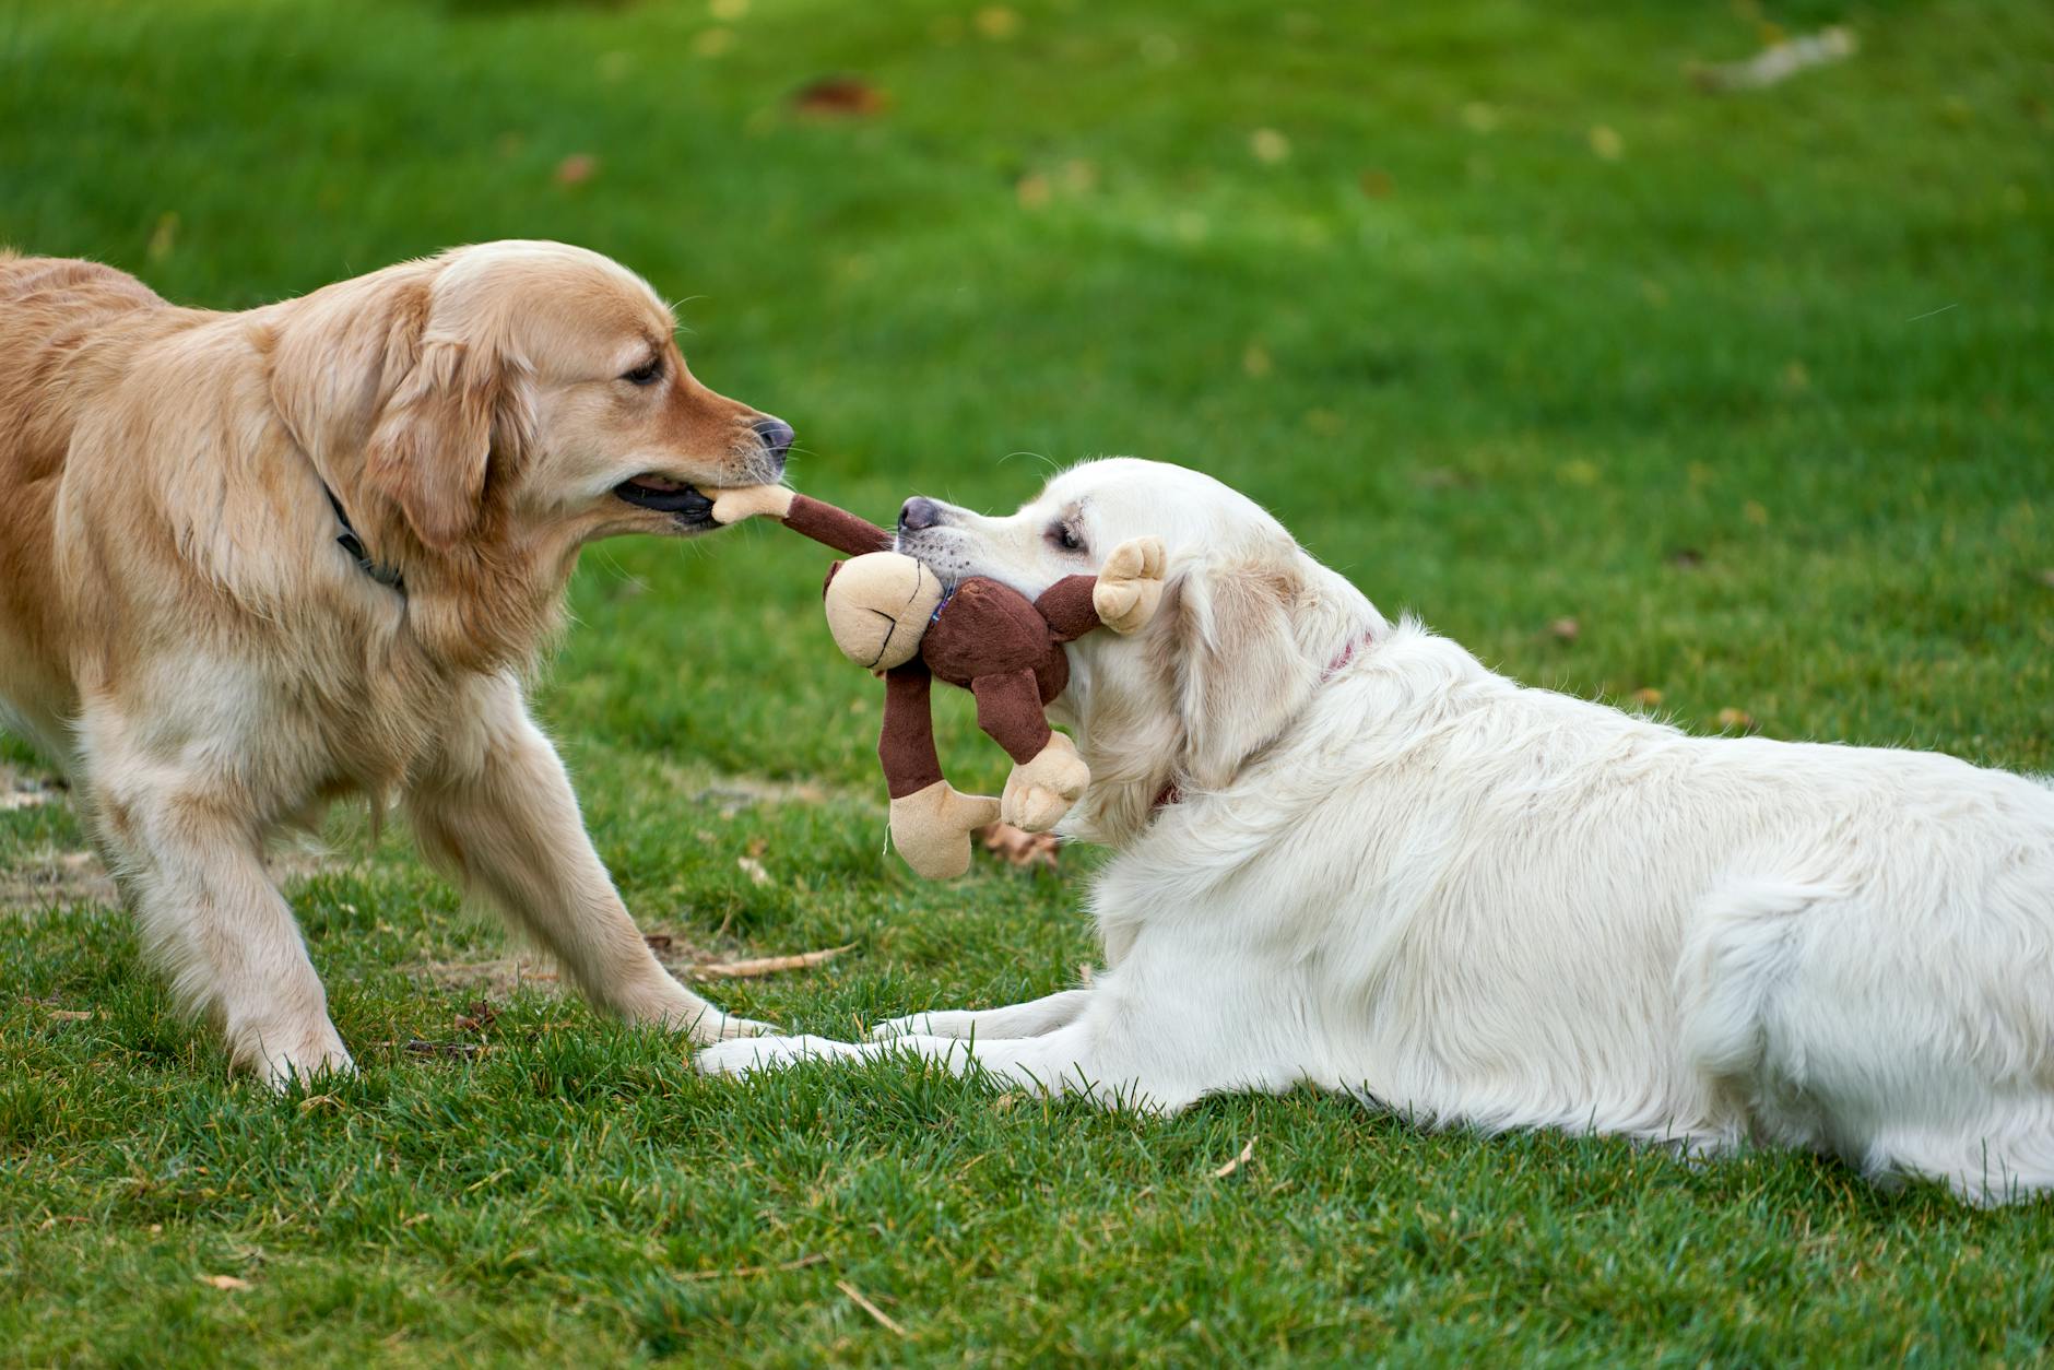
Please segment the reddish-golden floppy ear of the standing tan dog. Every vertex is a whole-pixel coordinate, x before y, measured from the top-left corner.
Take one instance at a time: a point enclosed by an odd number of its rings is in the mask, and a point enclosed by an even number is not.
[[[423,544],[450,550],[479,522],[493,460],[524,450],[532,429],[518,368],[491,349],[427,339],[378,415],[364,479]]]

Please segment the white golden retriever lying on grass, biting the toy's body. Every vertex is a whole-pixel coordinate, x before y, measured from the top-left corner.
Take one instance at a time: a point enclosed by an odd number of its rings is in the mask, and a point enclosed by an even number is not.
[[[1434,1124],[1836,1152],[1978,1202],[2054,1185],[2054,791],[1879,748],[1688,737],[1384,618],[1255,503],[1138,460],[900,544],[1025,594],[1171,546],[1072,643],[1111,844],[1089,988],[707,1070],[914,1052],[1177,1109],[1347,1091]]]

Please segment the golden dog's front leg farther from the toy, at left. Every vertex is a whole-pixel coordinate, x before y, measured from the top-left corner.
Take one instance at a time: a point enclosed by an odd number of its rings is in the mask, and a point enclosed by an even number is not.
[[[88,817],[177,1000],[216,1021],[234,1064],[273,1087],[351,1070],[234,783],[152,762],[105,715],[86,754]]]

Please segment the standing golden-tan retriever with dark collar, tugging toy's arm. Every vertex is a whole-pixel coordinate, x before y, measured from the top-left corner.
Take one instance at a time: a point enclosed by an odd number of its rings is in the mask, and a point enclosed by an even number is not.
[[[596,1004],[756,1025],[649,953],[524,678],[594,538],[715,528],[791,427],[707,390],[649,286],[489,242],[240,314],[0,253],[0,725],[70,778],[183,1006],[347,1070],[265,844],[362,793]]]

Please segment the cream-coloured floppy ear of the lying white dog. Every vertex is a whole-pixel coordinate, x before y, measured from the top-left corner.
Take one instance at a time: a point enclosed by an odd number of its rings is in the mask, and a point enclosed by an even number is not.
[[[1200,557],[1171,571],[1181,770],[1200,789],[1228,785],[1319,682],[1292,622],[1302,594],[1294,548]]]

